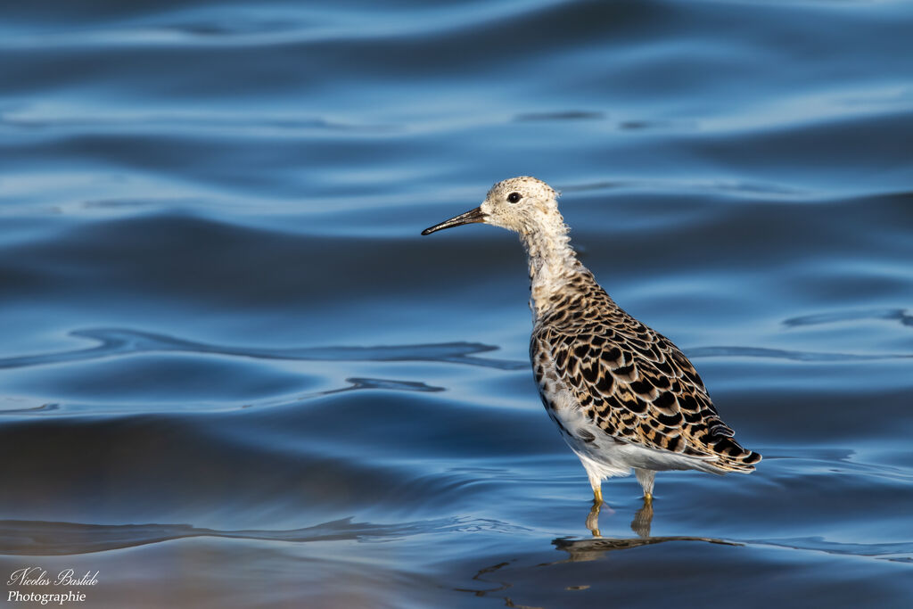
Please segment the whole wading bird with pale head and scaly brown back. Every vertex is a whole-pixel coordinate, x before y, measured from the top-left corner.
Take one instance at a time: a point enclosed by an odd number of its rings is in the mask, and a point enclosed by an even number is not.
[[[647,499],[659,470],[753,471],[761,455],[732,439],[687,357],[621,310],[577,259],[557,198],[540,180],[511,178],[423,235],[472,222],[519,233],[530,261],[533,373],[597,503],[603,478],[632,467]]]

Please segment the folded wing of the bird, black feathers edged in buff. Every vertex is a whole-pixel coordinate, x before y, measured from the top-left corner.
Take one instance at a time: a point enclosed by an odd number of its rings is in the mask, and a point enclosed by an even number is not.
[[[603,292],[604,294],[604,292]],[[530,355],[540,388],[550,371],[585,415],[610,436],[640,446],[714,459],[748,472],[761,455],[742,448],[719,418],[685,354],[614,306],[539,323]]]

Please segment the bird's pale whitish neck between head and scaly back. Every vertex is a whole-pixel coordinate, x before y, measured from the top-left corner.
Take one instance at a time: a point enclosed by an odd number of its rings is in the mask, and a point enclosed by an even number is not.
[[[530,259],[530,309],[538,320],[550,309],[552,297],[586,268],[577,259],[563,222],[555,230],[521,233],[520,239]]]

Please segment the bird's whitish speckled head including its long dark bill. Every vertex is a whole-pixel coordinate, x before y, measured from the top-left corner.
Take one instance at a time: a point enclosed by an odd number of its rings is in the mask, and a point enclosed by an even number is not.
[[[482,205],[425,228],[422,235],[474,222],[500,226],[520,235],[535,232],[563,235],[567,232],[558,212],[558,193],[549,184],[523,175],[498,182],[488,191]]]

